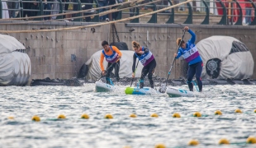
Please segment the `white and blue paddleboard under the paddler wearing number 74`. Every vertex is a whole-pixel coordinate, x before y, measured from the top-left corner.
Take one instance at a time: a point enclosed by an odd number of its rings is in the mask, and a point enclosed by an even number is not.
[[[194,96],[192,91],[176,89],[174,87],[167,87],[166,94],[169,95],[170,97],[181,97],[181,96],[193,97]]]

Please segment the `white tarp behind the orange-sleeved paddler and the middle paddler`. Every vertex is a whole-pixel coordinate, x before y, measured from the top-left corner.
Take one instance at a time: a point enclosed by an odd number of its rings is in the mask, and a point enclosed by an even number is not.
[[[101,58],[102,50],[97,51],[92,55],[92,57],[85,63],[88,65],[88,74],[86,78],[89,80],[97,80],[101,76],[101,67],[100,67],[100,58]],[[123,77],[131,77],[132,74],[132,64],[133,64],[133,54],[134,51],[121,50],[122,56],[120,61],[120,70],[119,76]],[[138,59],[136,60],[138,62]],[[105,70],[107,69],[107,61],[104,59],[103,62]],[[135,77],[140,77],[142,64],[139,63]],[[115,70],[113,70],[113,73]]]

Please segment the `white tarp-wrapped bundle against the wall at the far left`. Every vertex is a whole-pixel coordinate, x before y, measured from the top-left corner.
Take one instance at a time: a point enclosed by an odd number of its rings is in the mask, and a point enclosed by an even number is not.
[[[17,39],[0,35],[0,86],[24,86],[31,76],[31,59]]]

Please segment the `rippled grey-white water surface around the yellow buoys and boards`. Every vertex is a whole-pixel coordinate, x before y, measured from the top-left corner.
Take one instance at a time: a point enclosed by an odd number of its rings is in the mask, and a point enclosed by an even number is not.
[[[194,98],[125,95],[126,86],[95,93],[93,87],[0,87],[0,147],[183,147],[192,139],[201,147],[217,147],[220,138],[237,143],[256,136],[256,86],[205,86],[206,97]],[[238,108],[244,113],[234,113]],[[214,115],[217,109],[222,116]],[[203,117],[193,118],[196,111]],[[60,113],[67,119],[55,121]],[[82,113],[90,118],[80,119]],[[105,119],[106,113],[114,118]],[[138,117],[129,118],[130,113]],[[172,118],[173,113],[182,118]],[[41,121],[32,122],[33,115]]]

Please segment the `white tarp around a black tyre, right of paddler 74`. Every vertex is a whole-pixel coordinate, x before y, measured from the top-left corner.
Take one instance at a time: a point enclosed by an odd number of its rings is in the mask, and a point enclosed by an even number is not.
[[[230,36],[211,36],[198,42],[197,49],[204,62],[202,78],[211,78],[206,73],[206,62],[212,58],[219,58],[221,61],[218,79],[246,79],[253,76],[254,58],[238,39]]]

